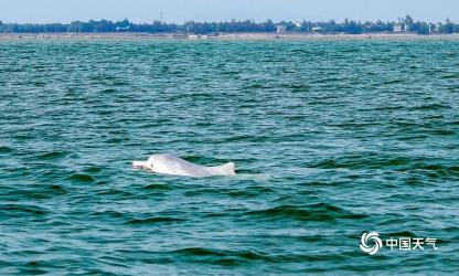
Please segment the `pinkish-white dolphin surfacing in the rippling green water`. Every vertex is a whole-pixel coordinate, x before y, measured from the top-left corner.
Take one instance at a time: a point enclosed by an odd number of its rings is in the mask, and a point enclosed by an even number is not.
[[[147,161],[134,161],[134,168],[145,169],[157,173],[205,178],[214,176],[235,176],[233,162],[217,167],[204,167],[191,163],[173,155],[152,155]]]

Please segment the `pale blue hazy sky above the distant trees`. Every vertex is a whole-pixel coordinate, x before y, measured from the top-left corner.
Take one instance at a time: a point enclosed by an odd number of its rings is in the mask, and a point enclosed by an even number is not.
[[[415,20],[459,22],[459,0],[0,0],[3,22],[63,22],[89,19],[151,22],[252,19]]]

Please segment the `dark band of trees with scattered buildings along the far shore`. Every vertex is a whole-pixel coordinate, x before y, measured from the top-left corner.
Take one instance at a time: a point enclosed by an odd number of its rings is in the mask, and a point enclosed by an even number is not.
[[[0,21],[0,33],[54,33],[54,32],[72,32],[72,33],[107,33],[107,32],[147,32],[147,33],[232,33],[232,32],[301,32],[301,33],[377,33],[377,32],[412,32],[418,34],[429,33],[459,33],[459,24],[447,19],[445,22],[429,23],[424,21],[415,21],[412,17],[398,19],[398,21],[383,22],[361,22],[353,20],[344,20],[337,22],[330,20],[328,22],[312,21],[281,21],[273,22],[255,22],[245,21],[226,21],[226,22],[194,22],[189,21],[183,24],[166,23],[153,21],[152,23],[132,23],[125,19],[122,21],[109,20],[90,20],[88,22],[74,21],[70,24],[49,23],[49,24],[30,24],[30,23],[3,23]]]

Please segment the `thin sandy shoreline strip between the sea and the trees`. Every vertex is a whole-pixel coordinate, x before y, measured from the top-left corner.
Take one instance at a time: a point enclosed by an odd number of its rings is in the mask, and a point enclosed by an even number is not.
[[[459,34],[416,34],[416,33],[218,33],[218,34],[178,34],[178,33],[0,33],[0,40],[327,40],[327,39],[459,39]]]

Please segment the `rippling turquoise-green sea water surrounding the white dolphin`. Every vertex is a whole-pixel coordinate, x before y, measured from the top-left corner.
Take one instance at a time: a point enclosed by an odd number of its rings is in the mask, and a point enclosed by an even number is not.
[[[0,274],[459,269],[459,40],[0,42]],[[171,152],[237,177],[131,169]],[[382,248],[361,235],[438,238]]]

